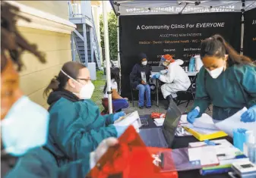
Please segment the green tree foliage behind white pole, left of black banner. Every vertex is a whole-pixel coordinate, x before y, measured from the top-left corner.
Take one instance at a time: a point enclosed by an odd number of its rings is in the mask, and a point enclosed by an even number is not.
[[[114,11],[108,13],[109,23],[109,57],[110,60],[117,61],[117,17]],[[100,15],[100,39],[101,47],[104,48],[104,27],[103,27],[103,14]],[[103,50],[103,60],[105,61],[105,53]]]

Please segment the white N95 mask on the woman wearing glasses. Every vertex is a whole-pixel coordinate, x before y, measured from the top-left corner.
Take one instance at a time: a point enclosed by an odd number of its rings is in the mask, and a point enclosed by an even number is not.
[[[74,80],[72,77],[70,77],[63,70],[61,70],[61,71],[62,71],[62,73],[65,74],[65,76],[67,76],[71,80]],[[80,92],[79,93],[74,93],[75,95],[78,95],[78,97],[80,99],[90,99],[90,98],[92,98],[95,86],[93,85],[93,83],[91,83],[91,81],[89,81],[89,83],[87,83],[85,85],[83,85],[82,83],[78,82],[77,80],[74,80],[74,82],[79,83],[80,85],[82,85],[82,88],[81,88]]]

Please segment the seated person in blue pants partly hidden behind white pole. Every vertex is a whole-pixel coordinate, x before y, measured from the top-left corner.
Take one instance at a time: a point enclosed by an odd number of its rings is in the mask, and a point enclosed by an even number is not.
[[[128,98],[122,98],[121,95],[119,95],[120,91],[120,75],[119,75],[119,68],[115,67],[111,69],[111,91],[112,91],[112,105],[113,105],[113,111],[121,111],[122,109],[128,108]],[[107,94],[107,83],[104,87],[104,98],[103,98],[103,106],[106,111],[108,111],[108,94]]]

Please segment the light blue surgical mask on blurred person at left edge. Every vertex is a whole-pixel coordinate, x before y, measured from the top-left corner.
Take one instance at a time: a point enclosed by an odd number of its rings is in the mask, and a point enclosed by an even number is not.
[[[19,98],[1,121],[5,152],[13,156],[46,144],[49,113],[27,96]]]

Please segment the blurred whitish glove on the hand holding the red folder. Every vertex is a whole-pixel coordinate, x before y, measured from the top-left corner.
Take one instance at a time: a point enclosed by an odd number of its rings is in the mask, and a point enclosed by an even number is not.
[[[106,153],[109,147],[118,145],[118,143],[119,140],[114,137],[109,137],[100,142],[96,150],[90,153],[90,169],[95,167],[96,163]]]

